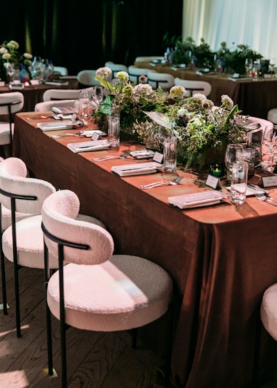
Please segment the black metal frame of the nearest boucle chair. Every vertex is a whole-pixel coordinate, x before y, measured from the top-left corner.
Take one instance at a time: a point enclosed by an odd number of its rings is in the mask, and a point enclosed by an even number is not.
[[[60,341],[61,341],[61,358],[62,358],[62,388],[67,387],[66,383],[66,329],[69,325],[65,322],[64,311],[64,247],[76,248],[81,250],[89,250],[90,246],[82,243],[73,243],[72,241],[66,241],[54,236],[46,229],[44,223],[42,223],[42,231],[44,232],[44,281],[45,281],[45,298],[46,298],[46,331],[47,331],[47,354],[48,354],[48,375],[53,376],[53,349],[52,349],[52,327],[51,327],[51,311],[47,303],[47,287],[48,280],[51,273],[48,266],[48,247],[45,243],[45,237],[57,243],[58,252],[58,265],[59,265],[59,281],[60,281]],[[166,343],[166,367],[164,387],[170,387],[170,361],[171,361],[171,349],[172,349],[172,305],[170,303],[168,307],[168,327],[167,327],[167,343]],[[132,329],[132,348],[136,349],[136,329]]]

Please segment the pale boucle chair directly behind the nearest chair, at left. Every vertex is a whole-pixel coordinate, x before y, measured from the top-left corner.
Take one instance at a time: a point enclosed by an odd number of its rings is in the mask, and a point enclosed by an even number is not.
[[[41,228],[42,203],[55,192],[55,187],[37,178],[27,178],[25,163],[19,158],[7,158],[0,163],[0,202],[11,211],[12,222],[2,234],[3,255],[14,264],[17,337],[21,337],[19,308],[19,266],[44,268],[44,239]],[[16,221],[16,212],[33,214]],[[78,219],[105,225],[98,219],[76,214]],[[57,268],[51,255],[50,268]],[[3,287],[6,287],[3,284]]]

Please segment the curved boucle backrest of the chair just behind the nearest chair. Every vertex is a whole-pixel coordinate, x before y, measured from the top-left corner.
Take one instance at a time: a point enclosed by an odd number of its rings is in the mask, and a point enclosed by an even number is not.
[[[22,196],[16,200],[17,212],[40,214],[45,198],[55,192],[55,187],[37,178],[27,178],[27,168],[19,158],[7,158],[0,163],[0,202],[11,210],[10,195]],[[5,193],[6,192],[6,193]],[[33,196],[24,198],[24,196]]]

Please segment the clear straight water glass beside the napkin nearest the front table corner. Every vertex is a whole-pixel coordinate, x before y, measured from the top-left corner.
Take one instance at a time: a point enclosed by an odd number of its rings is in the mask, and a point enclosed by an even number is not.
[[[232,166],[231,176],[231,202],[242,204],[247,193],[248,163],[235,162]]]

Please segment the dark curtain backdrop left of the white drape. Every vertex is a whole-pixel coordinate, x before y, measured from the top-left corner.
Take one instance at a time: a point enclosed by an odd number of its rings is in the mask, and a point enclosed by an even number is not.
[[[75,75],[106,61],[163,55],[163,36],[181,37],[183,0],[6,0],[0,44],[53,60]]]

